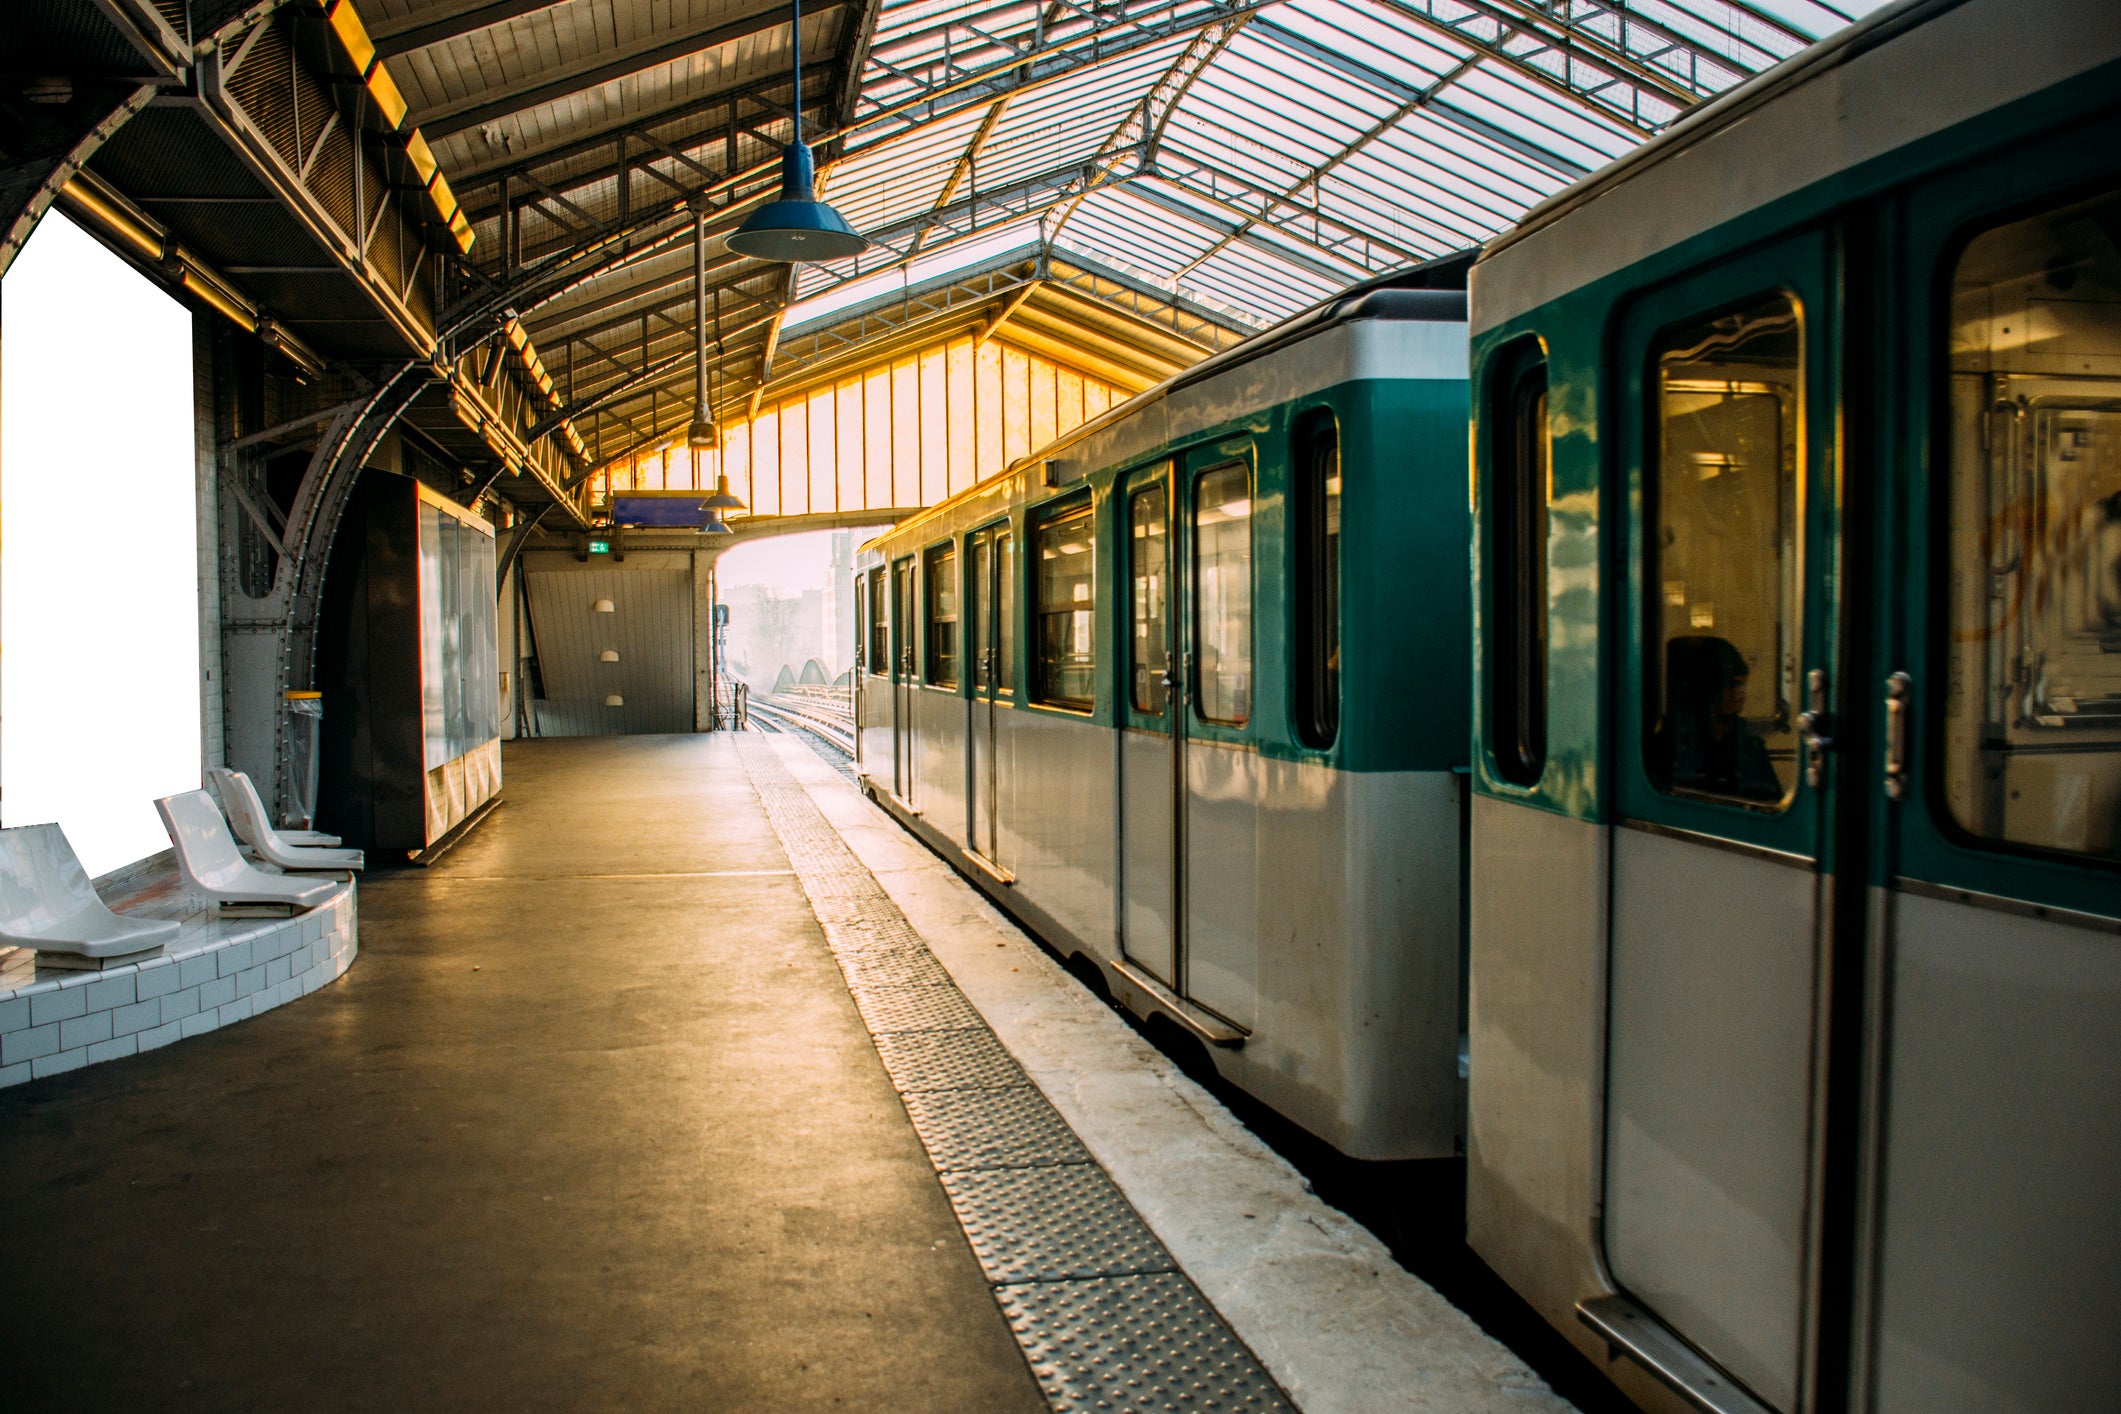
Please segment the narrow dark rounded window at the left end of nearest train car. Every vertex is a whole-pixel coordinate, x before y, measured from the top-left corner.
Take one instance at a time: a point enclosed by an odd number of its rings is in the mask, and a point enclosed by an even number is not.
[[[1546,772],[1546,505],[1553,439],[1546,358],[1519,346],[1497,365],[1489,475],[1487,740],[1495,772],[1529,786]]]

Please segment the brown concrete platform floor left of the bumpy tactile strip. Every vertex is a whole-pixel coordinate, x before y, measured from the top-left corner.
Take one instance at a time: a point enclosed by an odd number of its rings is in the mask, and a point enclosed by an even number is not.
[[[0,1092],[0,1194],[6,1408],[1046,1408],[728,740],[511,746],[341,982]]]

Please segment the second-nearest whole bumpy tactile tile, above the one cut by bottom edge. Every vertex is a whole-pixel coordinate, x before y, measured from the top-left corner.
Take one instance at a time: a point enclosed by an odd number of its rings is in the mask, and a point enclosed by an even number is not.
[[[944,1172],[942,1185],[997,1285],[1177,1270],[1094,1164]]]

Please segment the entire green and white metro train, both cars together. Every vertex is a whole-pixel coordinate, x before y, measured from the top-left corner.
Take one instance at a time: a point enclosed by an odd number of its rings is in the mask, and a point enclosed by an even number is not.
[[[863,780],[1648,1410],[2121,1408],[2117,95],[1890,6],[897,526]]]

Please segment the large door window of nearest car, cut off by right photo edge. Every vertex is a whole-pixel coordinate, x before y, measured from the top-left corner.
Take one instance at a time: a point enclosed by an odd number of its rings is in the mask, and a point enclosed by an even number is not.
[[[1951,273],[1945,799],[1987,839],[2121,861],[2121,191]]]

